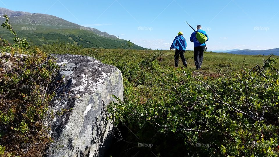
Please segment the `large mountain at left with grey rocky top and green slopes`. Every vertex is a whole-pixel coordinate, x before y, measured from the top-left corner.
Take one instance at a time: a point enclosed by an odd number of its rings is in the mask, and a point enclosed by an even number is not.
[[[71,42],[83,47],[117,49],[122,47],[121,44],[127,42],[96,28],[83,27],[56,16],[13,11],[6,8],[0,8],[1,24],[5,21],[5,18],[2,17],[4,14],[10,17],[12,28],[18,36],[29,39],[35,45],[60,41]],[[13,35],[6,28],[1,27],[0,34],[2,38],[12,41]],[[134,45],[133,49],[144,48]]]

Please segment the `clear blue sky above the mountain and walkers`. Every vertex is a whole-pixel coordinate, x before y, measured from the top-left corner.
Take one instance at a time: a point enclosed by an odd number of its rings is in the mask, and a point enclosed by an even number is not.
[[[144,48],[169,49],[183,31],[187,49],[192,29],[201,24],[209,50],[279,48],[278,0],[0,0],[0,7],[45,13],[97,28]]]

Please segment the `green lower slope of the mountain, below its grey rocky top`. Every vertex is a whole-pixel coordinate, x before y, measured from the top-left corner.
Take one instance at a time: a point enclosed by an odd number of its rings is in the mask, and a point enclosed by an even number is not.
[[[38,46],[52,44],[59,41],[70,42],[72,44],[81,45],[85,48],[117,49],[122,47],[121,44],[126,44],[127,42],[123,39],[108,38],[97,35],[92,31],[79,30],[76,28],[31,24],[13,24],[12,27],[17,32],[19,38],[26,38],[29,42]],[[22,28],[29,30],[22,30]],[[7,39],[10,42],[14,37],[5,28],[0,28],[0,35],[2,38]],[[137,45],[134,45],[132,48],[144,49]]]

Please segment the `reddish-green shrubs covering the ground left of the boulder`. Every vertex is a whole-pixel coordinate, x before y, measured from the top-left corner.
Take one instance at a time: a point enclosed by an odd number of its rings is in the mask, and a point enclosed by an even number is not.
[[[44,124],[55,96],[51,86],[58,66],[47,53],[18,38],[5,17],[2,26],[16,37],[14,44],[1,39],[5,44],[0,47],[0,154],[38,156],[51,142]]]

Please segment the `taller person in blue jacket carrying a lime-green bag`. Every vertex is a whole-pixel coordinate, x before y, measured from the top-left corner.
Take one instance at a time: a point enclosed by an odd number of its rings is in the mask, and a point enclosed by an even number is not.
[[[206,34],[205,31],[201,30],[201,25],[197,26],[197,31],[200,33],[203,33],[207,38],[208,35]],[[209,38],[208,38],[209,39]],[[206,41],[208,41],[208,39]],[[194,60],[195,60],[195,65],[196,69],[201,69],[201,65],[203,64],[203,52],[206,47],[205,43],[201,44],[197,38],[196,38],[196,32],[193,32],[190,41],[194,42]]]

